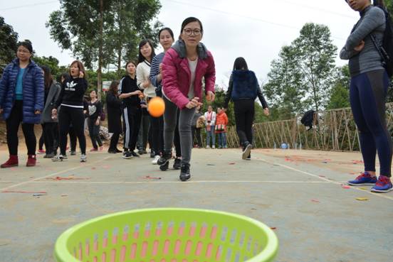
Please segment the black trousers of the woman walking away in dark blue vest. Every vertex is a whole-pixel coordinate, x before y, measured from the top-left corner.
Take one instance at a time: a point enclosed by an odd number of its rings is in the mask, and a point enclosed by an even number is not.
[[[252,126],[255,114],[253,100],[239,100],[234,102],[236,131],[241,146],[245,143],[253,143]]]

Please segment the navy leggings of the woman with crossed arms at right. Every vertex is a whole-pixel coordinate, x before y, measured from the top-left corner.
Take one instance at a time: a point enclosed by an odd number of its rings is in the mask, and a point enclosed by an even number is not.
[[[380,174],[391,177],[392,138],[385,120],[385,102],[389,78],[384,70],[352,77],[350,102],[357,129],[365,171],[375,171],[378,151]]]

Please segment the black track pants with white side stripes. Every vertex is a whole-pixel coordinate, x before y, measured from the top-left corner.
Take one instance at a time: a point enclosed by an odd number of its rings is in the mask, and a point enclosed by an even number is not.
[[[142,111],[136,107],[125,107],[122,116],[124,119],[124,148],[134,151],[137,145]]]

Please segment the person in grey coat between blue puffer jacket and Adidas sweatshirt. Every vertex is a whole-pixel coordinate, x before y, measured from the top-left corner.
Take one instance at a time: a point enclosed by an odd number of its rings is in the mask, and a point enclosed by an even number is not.
[[[45,107],[41,114],[41,124],[43,126],[43,142],[45,143],[46,154],[43,158],[53,158],[55,156],[55,141],[58,139],[58,119],[52,117],[52,109],[61,91],[61,85],[53,80],[51,69],[45,65],[41,66],[45,86]]]

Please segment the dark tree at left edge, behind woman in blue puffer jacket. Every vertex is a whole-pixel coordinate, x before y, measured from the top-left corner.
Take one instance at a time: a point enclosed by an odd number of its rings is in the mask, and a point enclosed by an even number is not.
[[[0,73],[16,56],[18,33],[0,16]]]

